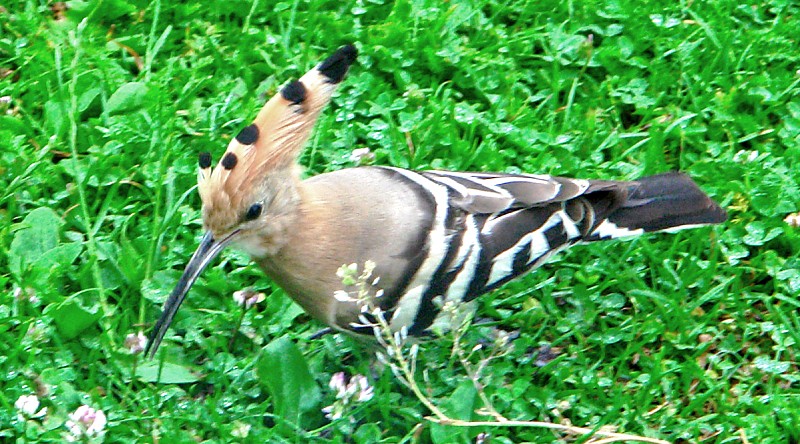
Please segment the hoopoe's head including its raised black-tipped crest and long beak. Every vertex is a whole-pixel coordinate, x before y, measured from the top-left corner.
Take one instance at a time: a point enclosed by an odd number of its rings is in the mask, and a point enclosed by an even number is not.
[[[216,165],[210,153],[200,153],[197,188],[205,235],[164,304],[146,354],[155,355],[192,284],[227,245],[233,243],[254,257],[281,247],[276,234],[291,223],[299,201],[297,156],[356,55],[354,46],[343,46],[286,84],[231,140]]]

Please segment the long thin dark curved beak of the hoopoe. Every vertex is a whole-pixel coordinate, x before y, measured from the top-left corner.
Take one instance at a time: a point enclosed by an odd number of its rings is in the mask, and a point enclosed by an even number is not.
[[[183,303],[183,300],[186,298],[186,294],[188,294],[189,289],[192,288],[192,284],[194,284],[194,281],[197,280],[200,273],[203,272],[208,264],[219,255],[220,251],[233,240],[237,233],[238,231],[234,231],[221,241],[215,240],[210,231],[206,232],[203,236],[197,250],[195,250],[192,258],[189,259],[189,263],[186,264],[183,275],[178,279],[178,284],[175,285],[175,289],[172,290],[167,302],[164,303],[164,311],[161,312],[161,317],[158,318],[155,328],[150,332],[150,337],[147,338],[147,348],[144,350],[145,356],[152,359],[156,355],[158,346],[164,339],[164,335],[167,333],[169,325],[175,317],[175,313],[178,312],[178,308],[180,308],[181,303]]]

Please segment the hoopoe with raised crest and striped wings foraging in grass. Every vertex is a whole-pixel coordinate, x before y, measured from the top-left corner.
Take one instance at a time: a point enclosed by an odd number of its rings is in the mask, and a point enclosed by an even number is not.
[[[572,245],[727,218],[682,173],[626,182],[367,166],[302,180],[299,152],[356,54],[344,46],[286,84],[215,166],[200,154],[205,235],[151,333],[149,356],[228,245],[312,317],[353,333],[372,329],[358,303],[334,296],[343,287],[337,270],[372,261],[375,305],[393,330],[418,335],[441,315],[437,299],[469,302]]]

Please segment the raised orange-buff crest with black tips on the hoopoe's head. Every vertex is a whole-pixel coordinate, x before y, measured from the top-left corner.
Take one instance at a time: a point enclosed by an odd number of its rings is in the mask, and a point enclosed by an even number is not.
[[[243,220],[268,177],[280,181],[296,176],[298,153],[356,55],[354,46],[343,46],[286,84],[231,140],[215,166],[210,153],[200,153],[197,182],[207,229],[228,231]]]

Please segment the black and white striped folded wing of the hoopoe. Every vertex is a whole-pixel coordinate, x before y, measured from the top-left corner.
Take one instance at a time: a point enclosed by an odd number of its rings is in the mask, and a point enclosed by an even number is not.
[[[433,214],[424,257],[381,302],[411,334],[435,320],[435,298],[471,301],[530,271],[583,240],[626,195],[615,182],[386,169],[427,196]]]

